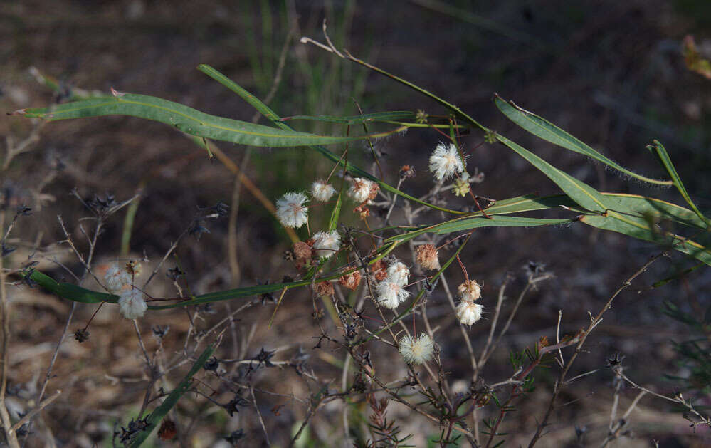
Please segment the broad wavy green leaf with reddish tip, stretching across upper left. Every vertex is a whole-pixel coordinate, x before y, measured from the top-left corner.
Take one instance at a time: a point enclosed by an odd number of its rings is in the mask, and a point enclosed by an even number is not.
[[[49,121],[101,115],[130,115],[173,125],[183,132],[199,137],[223,140],[251,146],[287,147],[302,145],[330,145],[352,142],[365,136],[337,137],[308,132],[277,129],[231,118],[209,115],[186,105],[149,95],[125,93],[112,98],[74,101],[52,108],[26,109],[21,115],[45,118]],[[397,131],[393,131],[397,132]],[[372,135],[381,137],[389,132]]]

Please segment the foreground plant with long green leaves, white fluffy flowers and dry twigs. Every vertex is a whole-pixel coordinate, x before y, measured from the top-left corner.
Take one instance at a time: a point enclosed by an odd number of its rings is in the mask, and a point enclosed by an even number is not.
[[[616,296],[650,264],[661,256],[677,251],[688,257],[693,269],[711,265],[711,250],[708,247],[711,241],[711,220],[702,214],[692,201],[670,155],[657,140],[651,142],[648,150],[660,162],[668,174],[668,179],[653,179],[628,170],[539,115],[498,95],[493,96],[495,107],[527,132],[602,163],[635,182],[646,183],[652,187],[673,187],[678,190],[680,199],[685,203],[684,207],[651,196],[600,192],[554,167],[497,130],[486,127],[452,103],[361,61],[347,51],[338,50],[332,46],[330,40],[327,39],[327,43],[319,43],[310,38],[302,38],[302,43],[315,44],[337,57],[365,66],[421,95],[426,95],[446,108],[447,114],[428,115],[420,110],[347,117],[300,115],[281,118],[255,95],[207,65],[199,66],[199,71],[239,95],[268,121],[268,125],[222,118],[162,98],[120,93],[115,90],[112,90],[110,95],[75,98],[48,108],[23,109],[12,114],[16,117],[40,118],[48,122],[100,115],[145,118],[184,132],[196,144],[204,147],[210,157],[221,157],[221,152],[213,141],[253,147],[302,146],[314,150],[332,164],[329,172],[322,173],[320,179],[304,182],[300,192],[284,192],[283,196],[275,201],[275,205],[268,199],[263,200],[265,207],[288,229],[288,235],[293,239],[293,250],[288,256],[295,264],[295,276],[280,283],[201,295],[192,295],[189,289],[181,288],[176,281],[177,296],[153,297],[149,282],[162,264],[159,264],[148,281],[139,288],[136,286],[139,272],[135,266],[128,266],[127,271],[114,268],[101,278],[92,271],[90,259],[84,257],[81,261],[88,275],[105,286],[105,291],[92,291],[73,283],[58,283],[41,271],[33,269],[33,266],[23,269],[25,281],[31,285],[38,284],[69,301],[92,306],[118,304],[123,316],[134,322],[136,319],[151,320],[155,313],[169,308],[186,308],[198,313],[200,306],[220,301],[233,301],[238,308],[236,314],[243,308],[263,301],[265,297],[275,298],[274,313],[279,313],[279,304],[289,300],[290,291],[295,288],[309,288],[314,316],[320,328],[317,347],[327,343],[342,350],[346,357],[344,380],[340,387],[321,384],[320,389],[304,401],[306,417],[293,434],[292,444],[302,437],[310,419],[318,410],[328,402],[342,400],[344,433],[346,437],[354,437],[359,446],[406,446],[409,435],[402,434],[399,424],[387,416],[388,403],[398,402],[438,424],[441,432],[436,442],[443,447],[460,444],[462,437],[473,446],[493,447],[504,440],[501,424],[505,417],[514,410],[514,405],[520,397],[532,390],[534,371],[542,365],[557,365],[558,377],[552,397],[547,410],[538,417],[539,426],[530,446],[534,446],[544,436],[559,392],[572,381],[572,363],[581,353],[590,333],[599,324],[602,315]],[[290,125],[300,120],[340,123],[347,127],[348,132],[345,135],[301,132]],[[384,126],[385,130],[373,132],[372,129],[377,126]],[[361,127],[364,131],[354,135],[350,132],[351,127]],[[430,191],[421,197],[415,197],[408,192],[408,180],[414,174],[414,168],[409,165],[399,166],[396,167],[397,174],[394,174],[393,167],[379,163],[377,152],[372,146],[372,142],[380,137],[395,135],[403,130],[437,132],[441,136],[442,142],[434,150],[421,149],[431,152],[429,170],[433,177]],[[460,143],[463,132],[478,133],[482,144],[500,145],[516,152],[552,180],[560,192],[548,196],[527,194],[506,199],[490,199],[475,194],[472,185],[480,182],[481,177],[477,172],[471,172],[468,167],[468,157],[472,155],[473,148]],[[369,169],[349,161],[354,158],[349,158],[349,144],[359,140],[367,142],[373,150],[374,160]],[[342,146],[344,150],[334,149]],[[465,197],[468,207],[449,208],[446,201],[441,200],[445,192]],[[95,214],[95,235],[98,235],[103,220],[127,203],[105,201],[88,204],[88,208]],[[398,213],[394,213],[396,207]],[[311,215],[317,213],[317,210],[324,210],[329,217],[328,225],[322,229],[314,228],[314,224],[310,224]],[[372,213],[373,210],[379,212]],[[531,217],[530,212],[556,212],[557,217]],[[566,216],[559,217],[561,212]],[[201,222],[221,217],[225,213],[223,204],[201,211],[186,232],[199,234]],[[354,227],[343,224],[347,221],[345,215],[352,213],[362,225]],[[507,318],[504,318],[502,303],[510,283],[505,281],[500,286],[496,303],[488,306],[492,317],[487,323],[490,325],[487,340],[471,340],[468,333],[470,326],[485,325],[480,322],[483,306],[480,304],[481,288],[478,283],[483,279],[473,278],[469,274],[468,267],[460,259],[460,253],[476,229],[482,227],[561,224],[587,225],[619,232],[631,238],[650,241],[660,246],[661,252],[651,256],[644,266],[631,272],[630,277],[616,291],[611,291],[609,301],[601,307],[599,313],[590,315],[590,323],[586,328],[576,334],[556,334],[554,342],[547,338],[532,341],[529,348],[511,354],[512,373],[509,377],[500,380],[485,379],[481,375],[483,366],[510,327],[527,291],[550,278],[550,275],[539,269],[539,266],[530,266],[525,288],[518,291],[515,304],[508,311]],[[4,234],[8,234],[10,230],[11,226],[6,226]],[[649,246],[650,251],[653,251],[653,244]],[[171,250],[173,249],[174,246]],[[79,251],[77,255],[81,257]],[[166,254],[163,260],[168,255]],[[169,272],[169,276],[174,280],[179,278],[180,274],[177,268]],[[459,276],[464,278],[459,286],[449,283],[451,278]],[[470,385],[465,392],[453,392],[453,387],[442,368],[443,354],[438,345],[436,326],[428,317],[428,301],[431,303],[442,297],[451,306],[451,316],[458,321],[470,355]],[[322,323],[321,306],[330,313],[335,328],[339,330],[338,334]],[[147,366],[151,367],[152,385],[177,363],[184,362],[184,359],[191,360],[193,367],[186,373],[184,380],[171,391],[154,391],[149,387],[139,415],[127,428],[122,429],[122,442],[132,446],[141,444],[153,429],[167,421],[164,417],[189,390],[204,395],[206,400],[214,401],[209,395],[199,392],[199,387],[191,381],[200,368],[215,373],[214,381],[229,383],[231,390],[237,390],[230,402],[216,402],[225,407],[230,415],[238,412],[240,407],[255,405],[256,399],[253,387],[248,385],[248,382],[243,382],[246,381],[243,378],[235,379],[218,374],[218,366],[221,363],[244,363],[249,365],[249,371],[282,363],[294,367],[300,375],[310,375],[302,368],[298,356],[293,360],[278,361],[273,358],[275,353],[270,350],[262,349],[254,356],[242,353],[235,355],[233,360],[211,358],[221,342],[221,338],[217,337],[220,329],[230,325],[230,318],[233,316],[234,314],[214,326],[203,328],[199,332],[196,330],[194,334],[189,335],[191,343],[186,342],[184,358],[164,366],[163,370],[157,368],[154,359],[144,350]],[[560,318],[558,327],[559,325]],[[136,329],[140,337],[138,327]],[[79,330],[75,335],[80,341],[85,336]],[[406,363],[409,371],[406,379],[386,378],[378,373],[376,365],[380,361],[371,357],[376,345],[384,345],[393,354],[401,355],[401,362]],[[572,348],[572,351],[568,348]],[[352,375],[349,375],[350,365],[354,366]],[[636,383],[623,373],[621,360],[610,360],[609,367],[620,382],[636,386]],[[249,372],[246,373],[248,374]],[[311,380],[317,382],[317,378],[311,377]],[[641,386],[638,388],[640,395],[635,403],[650,392]],[[416,392],[408,392],[413,389]],[[152,403],[157,398],[161,399],[160,404],[148,412],[148,408],[154,406]],[[692,402],[681,396],[664,398],[685,407],[686,412],[696,416],[699,424],[709,423],[708,417],[696,410]],[[349,429],[348,408],[356,402],[367,403],[372,412],[367,423],[367,434],[354,435],[357,429]],[[259,413],[258,407],[256,410],[260,425],[264,429],[265,440],[269,442],[270,435],[265,429],[263,415]],[[2,417],[8,440],[16,443],[14,422],[6,415]],[[481,417],[484,417],[483,420]],[[609,437],[605,444],[621,437],[623,427],[623,422],[611,421]],[[161,427],[163,434],[171,430],[175,429],[169,426],[167,429]],[[236,442],[242,436],[243,434],[235,432],[228,440]]]

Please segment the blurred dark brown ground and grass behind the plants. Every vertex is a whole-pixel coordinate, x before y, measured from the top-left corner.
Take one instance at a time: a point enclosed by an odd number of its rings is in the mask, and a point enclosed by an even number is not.
[[[300,44],[301,36],[322,38],[324,18],[337,48],[347,48],[365,61],[428,88],[601,191],[643,194],[648,190],[518,130],[497,113],[491,102],[493,93],[515,100],[613,160],[651,176],[663,175],[644,149],[657,138],[669,150],[700,208],[711,208],[711,81],[688,71],[681,53],[684,36],[692,34],[700,51],[706,57],[711,55],[711,7],[705,0],[5,3],[0,11],[0,105],[6,111],[41,107],[66,100],[77,89],[106,92],[115,88],[251,120],[254,110],[195,70],[199,63],[208,63],[258,97],[270,96],[270,106],[282,116],[357,115],[359,108],[364,113],[418,109],[432,115],[445,113],[391,80]],[[31,67],[55,77],[60,94],[37,83]],[[275,83],[278,73],[280,81]],[[319,133],[345,132],[342,126],[327,123],[302,121],[294,125]],[[0,133],[15,141],[31,132],[28,120],[0,120]],[[34,212],[30,219],[23,219],[15,235],[26,242],[24,250],[13,255],[16,265],[26,261],[36,246],[42,246],[78,268],[65,249],[53,246],[63,239],[57,214],[73,226],[73,234],[80,234],[79,219],[86,212],[70,197],[73,189],[82,197],[109,192],[117,200],[141,192],[130,256],[152,261],[190,224],[196,207],[218,201],[237,204],[234,175],[167,126],[137,118],[93,118],[52,123],[38,135],[33,151],[16,157],[2,179],[3,188]],[[409,184],[409,191],[426,192],[432,182],[426,159],[440,138],[433,131],[411,130],[376,142],[386,182],[396,179],[401,165],[414,165],[419,175]],[[481,140],[471,136],[463,143],[474,147]],[[272,200],[284,192],[304,189],[331,168],[303,149],[257,148],[245,157],[245,147],[218,146]],[[372,160],[369,150],[360,144],[355,149],[349,157],[367,166]],[[504,199],[556,192],[542,174],[500,147],[482,145],[468,163],[485,173],[485,182],[474,191],[481,196]],[[39,185],[43,194],[39,194]],[[673,192],[667,191],[654,194],[673,197]],[[238,199],[233,244],[228,244],[230,221],[224,219],[210,223],[210,233],[199,241],[185,240],[177,251],[194,293],[275,282],[294,274],[283,260],[283,251],[289,247],[286,234],[249,192],[242,189]],[[115,216],[101,236],[98,255],[103,261],[120,256],[123,219],[122,214]],[[439,217],[433,217],[436,219]],[[494,305],[494,294],[507,274],[516,276],[517,284],[523,283],[522,268],[528,261],[545,264],[556,274],[553,281],[532,293],[525,312],[513,323],[505,341],[511,350],[521,350],[540,335],[550,338],[559,309],[564,311],[564,331],[574,332],[588,320],[586,311],[598,309],[634,267],[655,251],[651,244],[600,233],[582,224],[556,229],[483,229],[475,233],[475,239],[463,252],[463,261],[470,274],[483,283],[485,306]],[[233,266],[239,266],[238,276],[231,271],[230,256]],[[55,266],[43,263],[56,278],[63,275]],[[689,265],[675,256],[670,263],[655,266],[643,281],[650,286]],[[711,276],[698,269],[642,295],[625,293],[599,325],[589,355],[577,367],[581,371],[601,368],[607,356],[619,351],[626,355],[628,376],[660,391],[676,390],[679,381],[665,379],[663,373],[688,377],[693,369],[681,365],[678,350],[670,341],[690,338],[692,330],[687,323],[665,315],[663,311],[669,308],[663,303],[673,303],[677,313],[704,316],[708,291]],[[11,293],[16,316],[11,386],[22,396],[31,390],[37,376],[43,375],[68,306],[27,288]],[[246,332],[256,323],[255,353],[261,346],[273,349],[301,343],[315,365],[335,363],[328,350],[312,350],[317,327],[310,318],[306,293],[290,296],[280,308],[274,328],[267,330],[265,323],[272,311],[270,306],[256,307],[243,317]],[[428,311],[437,313],[438,308],[430,306]],[[85,322],[92,312],[88,307],[80,308],[75,322]],[[441,312],[446,312],[444,305]],[[169,339],[177,346],[185,320],[179,311],[152,313],[142,324],[147,330],[154,323],[170,323]],[[133,386],[132,393],[124,381],[125,376],[139,376],[140,370],[140,361],[133,355],[132,328],[126,323],[119,328],[110,314],[92,325],[93,338],[88,344],[65,342],[58,376],[51,382],[51,387],[62,388],[66,394],[44,419],[66,446],[105,443],[100,441],[112,430],[106,427],[107,422],[128,420],[130,407],[138,406],[142,399],[141,385]],[[483,326],[473,328],[473,340],[485,338],[485,330]],[[453,379],[467,381],[468,358],[463,356],[460,335],[453,333],[448,340],[447,334],[438,341],[447,370]],[[487,375],[492,378],[510,375],[506,350],[500,351],[499,361],[488,365]],[[334,369],[339,371],[337,363]],[[294,380],[295,375],[279,375],[275,378],[272,374],[264,381],[289,385],[287,390],[298,395],[303,386]],[[531,400],[522,403],[520,412],[507,422],[512,444],[530,438],[546,402],[552,377],[539,375],[539,387],[530,395]],[[574,404],[557,413],[549,446],[576,443],[576,426],[587,426],[591,431],[606,429],[611,377],[611,373],[591,375],[567,391],[568,401]],[[268,389],[268,385],[261,387]],[[302,409],[288,400],[267,397],[263,401],[264,412],[285,405],[280,416],[271,419],[282,424],[282,429],[303,418]],[[364,412],[367,415],[367,410]],[[671,409],[664,405],[644,401],[636,417],[639,438],[626,446],[649,446],[652,438],[668,447],[708,442],[707,429],[692,434],[680,415],[669,417],[668,412]],[[307,434],[312,446],[322,446],[337,434],[325,414],[315,419]],[[209,415],[211,420],[195,429],[197,445],[209,446],[215,434],[243,427],[253,437],[247,446],[258,446],[260,429],[253,410],[228,420],[219,410]],[[407,420],[401,426],[404,432],[418,430]],[[271,429],[276,433],[279,428]],[[431,431],[435,434],[436,427]],[[283,443],[283,437],[275,438]]]

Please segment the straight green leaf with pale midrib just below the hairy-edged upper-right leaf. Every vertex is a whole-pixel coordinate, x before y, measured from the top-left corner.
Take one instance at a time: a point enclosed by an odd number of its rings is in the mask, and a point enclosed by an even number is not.
[[[531,165],[537,167],[543,174],[555,182],[555,184],[557,184],[565,194],[579,204],[580,207],[588,209],[591,212],[605,212],[605,210],[609,208],[605,204],[605,197],[603,194],[593,187],[579,181],[566,172],[558,170],[541,157],[538,157],[534,153],[520,145],[517,145],[515,142],[512,142],[506,137],[497,135],[496,138],[504,145],[517,152],[518,155],[527,160]]]

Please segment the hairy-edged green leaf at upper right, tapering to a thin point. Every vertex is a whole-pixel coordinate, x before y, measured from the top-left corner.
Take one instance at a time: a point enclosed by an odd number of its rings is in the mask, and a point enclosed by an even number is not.
[[[589,147],[584,142],[581,142],[580,140],[576,139],[568,132],[565,132],[553,123],[550,123],[548,120],[518,107],[512,101],[507,102],[503,100],[499,95],[495,95],[494,103],[496,103],[496,107],[499,108],[499,110],[504,113],[504,115],[506,115],[512,122],[516,123],[517,125],[532,133],[536,137],[542,138],[543,140],[547,140],[553,143],[554,145],[564,147],[567,150],[586,155],[591,159],[597,160],[598,162],[602,162],[605,165],[614,168],[615,170],[623,172],[628,176],[634,177],[635,179],[639,179],[643,182],[649,182],[651,184],[657,185],[672,184],[672,181],[670,180],[652,179],[650,177],[637,174],[636,172],[632,172],[624,167],[621,167],[621,165],[618,165],[616,162],[613,162],[609,158],[600,154],[600,152]]]

